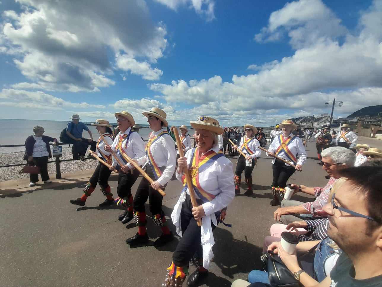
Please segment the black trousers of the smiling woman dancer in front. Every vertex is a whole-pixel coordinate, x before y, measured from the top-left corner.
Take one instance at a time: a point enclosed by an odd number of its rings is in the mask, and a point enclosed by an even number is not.
[[[200,199],[196,199],[196,202],[198,205],[203,204]],[[197,226],[197,222],[192,215],[192,208],[191,198],[188,194],[186,194],[186,200],[183,202],[180,214],[182,237],[180,238],[178,246],[176,246],[176,249],[172,254],[173,262],[176,266],[180,267],[186,266],[195,253],[197,259],[203,257],[201,227]],[[211,225],[212,230],[214,230],[215,225],[212,222]]]

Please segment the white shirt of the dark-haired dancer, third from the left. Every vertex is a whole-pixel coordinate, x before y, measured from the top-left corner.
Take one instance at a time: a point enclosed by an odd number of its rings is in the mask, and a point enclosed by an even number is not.
[[[157,132],[151,132],[149,139],[161,132],[167,132],[167,129],[160,129]],[[175,170],[176,153],[175,142],[169,134],[164,134],[150,145],[150,152],[158,167],[166,166],[162,175],[157,179],[160,185],[164,186],[172,178]],[[137,159],[139,165],[149,164],[146,152],[143,157]]]

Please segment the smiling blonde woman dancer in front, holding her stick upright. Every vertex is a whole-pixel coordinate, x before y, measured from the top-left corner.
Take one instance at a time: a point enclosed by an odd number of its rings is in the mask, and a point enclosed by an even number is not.
[[[195,129],[196,148],[191,148],[185,157],[178,159],[176,176],[184,188],[171,218],[181,238],[167,269],[165,286],[183,284],[189,261],[197,269],[189,276],[188,286],[198,286],[208,276],[214,257],[212,231],[218,222],[222,222],[224,209],[235,197],[232,163],[219,150],[218,134],[222,134],[223,128],[216,119],[207,116],[200,116],[190,124]],[[193,207],[191,202],[191,186],[186,183],[183,173],[186,170],[191,176],[197,207]],[[197,225],[199,219],[202,226]]]

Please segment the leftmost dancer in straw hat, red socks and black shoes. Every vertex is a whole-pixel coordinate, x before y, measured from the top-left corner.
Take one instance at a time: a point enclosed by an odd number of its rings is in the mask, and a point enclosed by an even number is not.
[[[99,159],[99,163],[97,167],[94,170],[94,173],[92,177],[89,179],[89,183],[86,184],[86,187],[84,188],[83,196],[77,198],[77,199],[70,199],[71,204],[76,204],[80,206],[84,206],[87,197],[91,195],[91,193],[94,191],[95,187],[97,186],[97,182],[101,188],[102,194],[106,196],[106,199],[104,202],[100,203],[99,206],[105,206],[105,205],[111,205],[114,204],[113,194],[110,191],[110,186],[107,183],[110,173],[112,170],[115,170],[115,168],[110,168],[112,166],[112,154],[110,152],[106,152],[104,150],[104,147],[107,145],[112,144],[113,138],[112,138],[112,127],[111,124],[109,124],[108,121],[104,119],[97,119],[97,121],[92,124],[93,126],[96,126],[96,130],[102,135],[102,137],[99,138],[96,146],[97,150],[97,158]],[[95,153],[94,153],[95,154]],[[103,161],[103,164],[101,163]],[[109,168],[105,165],[110,166]]]

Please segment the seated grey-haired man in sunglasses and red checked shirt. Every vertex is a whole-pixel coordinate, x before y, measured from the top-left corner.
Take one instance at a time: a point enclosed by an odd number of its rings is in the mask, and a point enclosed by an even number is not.
[[[354,166],[356,156],[348,148],[330,147],[322,151],[322,169],[330,176],[330,179],[324,188],[309,188],[304,185],[298,186],[292,184],[295,192],[304,192],[316,196],[313,202],[303,203],[295,200],[285,200],[281,202],[279,207],[274,212],[274,219],[279,223],[287,225],[288,223],[309,219],[317,219],[326,217],[326,213],[322,207],[326,204],[329,197],[330,189],[335,181],[340,178],[340,171],[347,167]]]

